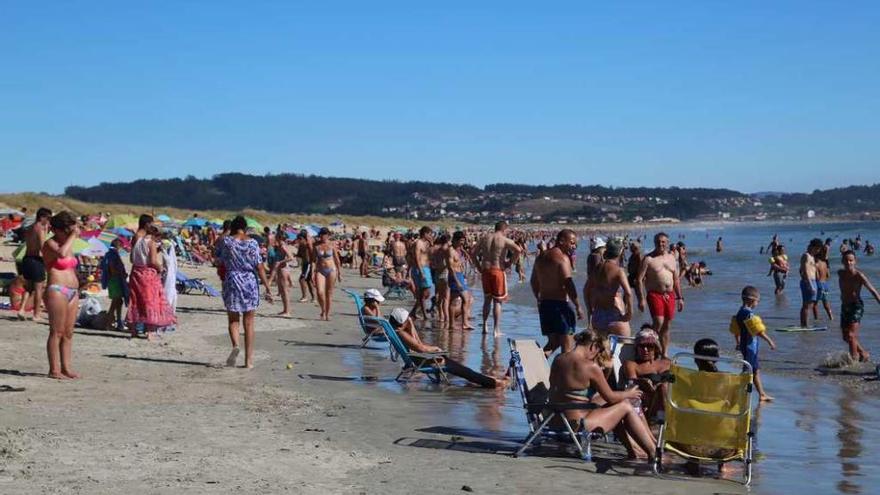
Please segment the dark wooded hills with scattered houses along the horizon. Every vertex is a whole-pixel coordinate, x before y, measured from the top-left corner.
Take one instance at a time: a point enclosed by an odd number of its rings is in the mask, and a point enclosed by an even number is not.
[[[89,202],[191,209],[254,208],[276,213],[375,215],[480,223],[871,220],[880,184],[811,193],[742,193],[720,188],[614,188],[599,185],[465,184],[229,173],[210,179],[149,179],[71,186]]]

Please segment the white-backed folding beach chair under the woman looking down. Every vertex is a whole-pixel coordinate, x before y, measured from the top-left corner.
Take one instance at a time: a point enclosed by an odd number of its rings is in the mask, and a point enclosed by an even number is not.
[[[529,434],[513,454],[520,457],[533,443],[544,440],[555,442],[571,441],[581,459],[592,459],[592,434],[586,421],[582,419],[575,432],[564,413],[572,410],[596,409],[595,404],[584,402],[550,402],[550,364],[544,350],[534,340],[512,340],[510,344],[510,369],[519,389],[529,424]],[[564,428],[552,427],[550,421],[560,416]]]

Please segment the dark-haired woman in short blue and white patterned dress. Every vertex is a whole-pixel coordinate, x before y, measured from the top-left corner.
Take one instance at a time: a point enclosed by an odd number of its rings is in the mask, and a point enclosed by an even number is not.
[[[223,264],[223,304],[229,319],[229,338],[232,352],[226,366],[235,366],[240,352],[238,329],[244,315],[244,366],[254,367],[254,311],[260,305],[260,287],[257,277],[266,287],[266,299],[272,302],[269,281],[260,260],[260,246],[247,235],[247,221],[242,216],[232,220],[229,235],[219,240],[217,257]]]

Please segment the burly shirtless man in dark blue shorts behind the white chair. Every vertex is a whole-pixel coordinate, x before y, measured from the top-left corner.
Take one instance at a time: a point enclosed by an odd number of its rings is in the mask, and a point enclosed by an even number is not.
[[[538,301],[541,334],[547,336],[547,356],[560,347],[562,352],[570,351],[574,347],[575,315],[578,320],[584,319],[571,275],[569,254],[575,249],[577,235],[571,229],[563,229],[556,235],[556,244],[540,254],[532,267],[532,293]]]

